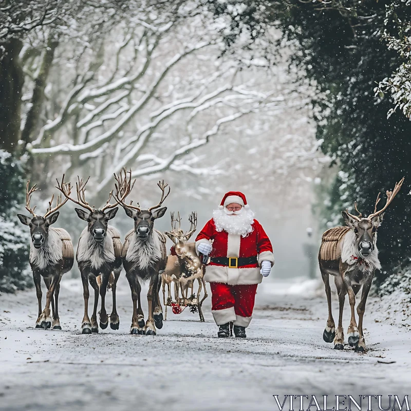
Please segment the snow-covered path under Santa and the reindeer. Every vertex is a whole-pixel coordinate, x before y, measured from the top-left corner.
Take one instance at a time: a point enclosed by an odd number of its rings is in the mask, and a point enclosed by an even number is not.
[[[270,278],[247,340],[218,340],[209,306],[206,323],[185,310],[156,337],[132,336],[130,292],[120,280],[120,330],[92,335],[79,333],[79,279],[62,283],[62,331],[31,328],[34,290],[0,296],[0,410],[249,411],[277,409],[273,394],[409,394],[411,333],[374,322],[372,312],[365,315],[368,353],[334,351],[322,341],[325,298],[278,295]],[[347,307],[345,328],[348,319]]]

